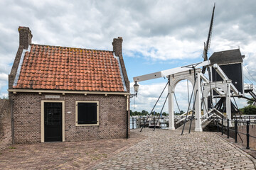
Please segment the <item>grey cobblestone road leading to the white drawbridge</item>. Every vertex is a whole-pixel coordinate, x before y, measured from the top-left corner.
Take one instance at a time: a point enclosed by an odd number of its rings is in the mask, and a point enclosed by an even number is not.
[[[142,135],[149,138],[92,169],[255,169],[253,157],[215,132],[144,129]]]

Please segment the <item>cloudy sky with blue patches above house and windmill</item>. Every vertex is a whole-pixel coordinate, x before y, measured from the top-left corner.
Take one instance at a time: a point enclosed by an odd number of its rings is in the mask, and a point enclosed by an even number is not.
[[[7,77],[18,49],[18,26],[28,26],[33,34],[32,42],[43,45],[112,50],[112,39],[120,36],[124,39],[124,62],[132,81],[132,77],[142,74],[201,62],[214,2],[215,19],[208,55],[240,47],[245,55],[244,65],[250,72],[244,71],[245,83],[256,84],[256,3],[253,0],[1,0],[0,96],[8,94]],[[150,111],[165,84],[166,79],[141,82],[135,109],[134,99],[131,101],[132,110]],[[182,110],[186,110],[188,103],[186,84],[187,81],[181,81],[176,88]],[[191,89],[190,85],[188,91]],[[156,111],[161,108],[165,95]],[[238,103],[242,107],[246,101]]]

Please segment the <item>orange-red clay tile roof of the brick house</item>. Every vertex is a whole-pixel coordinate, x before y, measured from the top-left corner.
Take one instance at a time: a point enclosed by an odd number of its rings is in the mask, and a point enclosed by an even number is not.
[[[31,45],[14,89],[124,91],[112,51]]]

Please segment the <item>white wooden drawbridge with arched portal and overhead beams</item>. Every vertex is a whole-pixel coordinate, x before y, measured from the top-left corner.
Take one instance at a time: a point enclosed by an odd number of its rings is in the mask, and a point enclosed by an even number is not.
[[[231,91],[233,91],[233,95],[238,96],[240,95],[238,93],[238,90],[235,88],[235,86],[232,84],[232,81],[228,79],[228,77],[225,75],[222,69],[218,67],[218,64],[213,64],[213,69],[218,72],[220,77],[223,78],[223,81],[215,81],[214,83],[212,81],[209,81],[208,78],[206,78],[202,74],[201,67],[206,67],[210,65],[210,61],[200,62],[196,64],[187,65],[184,67],[176,67],[174,69],[167,69],[161,72],[154,72],[151,74],[145,74],[139,77],[134,77],[134,82],[139,81],[146,81],[149,79],[157,79],[160,77],[166,77],[169,80],[168,84],[168,92],[169,92],[169,130],[175,130],[174,128],[174,90],[176,87],[176,84],[178,84],[179,81],[188,79],[193,84],[193,93],[195,96],[195,103],[194,103],[194,113],[195,113],[195,131],[201,132],[202,129],[202,116],[203,118],[208,118],[211,111],[208,111],[207,108],[207,98],[208,94],[211,90],[214,90],[216,93],[218,93],[221,96],[226,97],[226,112],[228,115],[228,118],[231,119]],[[202,104],[203,102],[203,104]],[[201,113],[201,107],[203,106],[203,115]],[[230,124],[231,125],[231,124]]]

